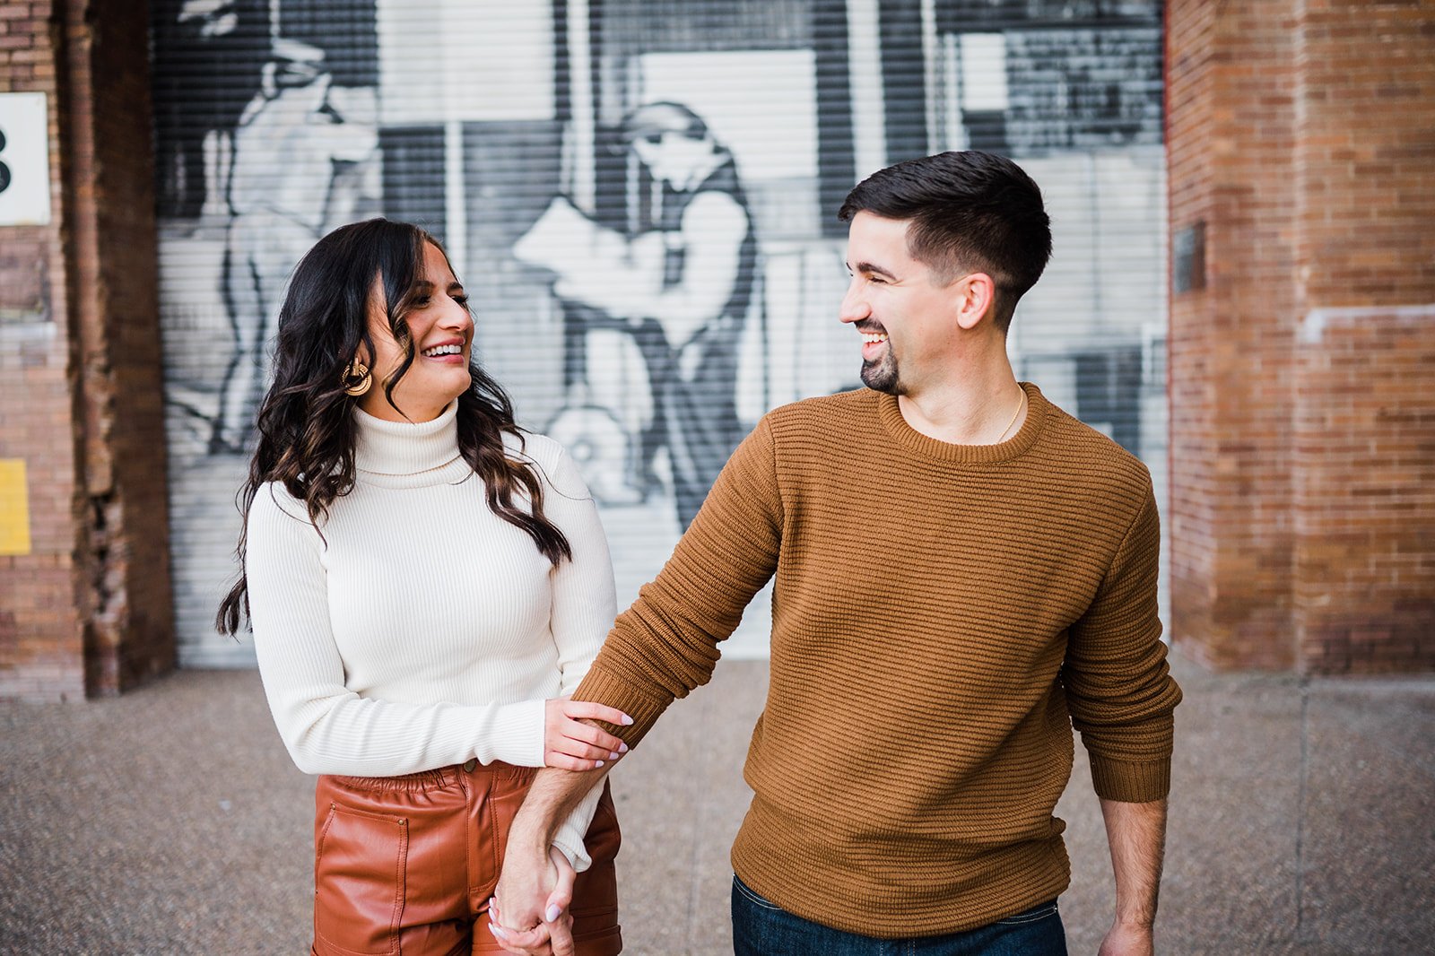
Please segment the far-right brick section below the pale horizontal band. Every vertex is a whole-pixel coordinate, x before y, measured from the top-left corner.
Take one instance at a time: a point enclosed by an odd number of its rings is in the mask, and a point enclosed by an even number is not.
[[[1435,306],[1307,314],[1294,411],[1302,666],[1435,667]]]

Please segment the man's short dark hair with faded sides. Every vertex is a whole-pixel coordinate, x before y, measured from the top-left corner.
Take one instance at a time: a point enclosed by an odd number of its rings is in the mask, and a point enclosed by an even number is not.
[[[907,251],[947,281],[989,274],[1003,330],[1052,257],[1042,191],[1022,167],[990,152],[938,152],[874,172],[847,194],[837,217],[850,222],[858,212],[908,221]]]

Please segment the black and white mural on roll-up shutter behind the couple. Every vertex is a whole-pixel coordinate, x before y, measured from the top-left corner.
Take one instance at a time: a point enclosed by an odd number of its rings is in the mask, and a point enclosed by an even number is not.
[[[181,660],[210,622],[288,271],[370,215],[439,235],[484,363],[600,502],[620,601],[769,408],[858,385],[857,179],[1016,158],[1056,254],[1020,378],[1165,481],[1157,0],[155,0]],[[725,653],[763,655],[763,601]]]

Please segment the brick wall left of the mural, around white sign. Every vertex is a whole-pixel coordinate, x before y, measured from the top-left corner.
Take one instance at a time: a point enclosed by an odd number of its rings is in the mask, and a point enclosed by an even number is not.
[[[0,227],[0,696],[115,693],[174,662],[145,4],[0,6],[0,90],[43,92],[50,225]]]

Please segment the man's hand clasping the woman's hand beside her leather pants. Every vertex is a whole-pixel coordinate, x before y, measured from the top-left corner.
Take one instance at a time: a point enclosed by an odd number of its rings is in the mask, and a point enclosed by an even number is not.
[[[537,881],[531,880],[535,874]],[[498,890],[488,901],[488,926],[499,946],[519,956],[571,956],[573,914],[568,913],[568,904],[573,903],[575,877],[568,857],[557,847],[548,848],[547,866],[531,867],[514,864],[509,843]],[[534,896],[535,890],[538,896]],[[530,916],[530,909],[499,903],[511,899],[537,899],[542,914]]]

